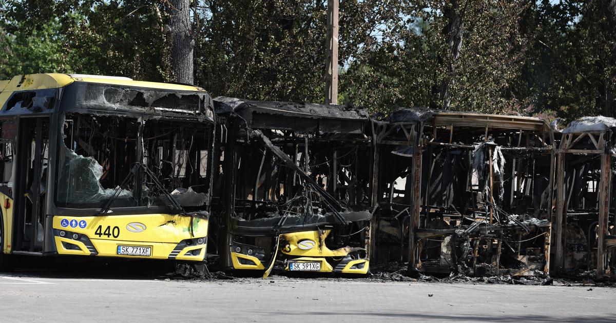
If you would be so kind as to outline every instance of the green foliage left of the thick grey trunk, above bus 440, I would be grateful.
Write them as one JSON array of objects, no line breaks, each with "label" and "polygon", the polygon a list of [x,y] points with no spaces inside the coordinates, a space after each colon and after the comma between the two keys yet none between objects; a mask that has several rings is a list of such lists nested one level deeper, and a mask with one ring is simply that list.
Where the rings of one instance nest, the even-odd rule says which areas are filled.
[{"label": "green foliage left of the thick grey trunk, above bus 440", "polygon": [[3,70],[3,78],[36,71],[166,79],[158,6],[155,1],[105,0],[0,5],[0,31],[10,49],[10,58],[0,58],[0,63],[5,70],[12,66]]}]

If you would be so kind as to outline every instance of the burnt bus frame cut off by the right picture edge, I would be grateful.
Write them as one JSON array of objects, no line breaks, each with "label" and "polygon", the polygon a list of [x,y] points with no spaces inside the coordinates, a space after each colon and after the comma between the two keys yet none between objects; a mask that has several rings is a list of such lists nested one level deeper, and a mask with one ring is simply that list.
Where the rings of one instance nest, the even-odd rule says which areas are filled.
[{"label": "burnt bus frame cut off by the right picture edge", "polygon": [[562,276],[616,277],[616,119],[586,116],[555,131],[553,268]]}]

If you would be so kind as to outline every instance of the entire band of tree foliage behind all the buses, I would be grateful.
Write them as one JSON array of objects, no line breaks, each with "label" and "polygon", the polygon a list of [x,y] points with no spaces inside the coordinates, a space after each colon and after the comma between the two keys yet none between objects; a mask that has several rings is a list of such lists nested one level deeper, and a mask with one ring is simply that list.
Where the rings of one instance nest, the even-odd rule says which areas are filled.
[{"label": "entire band of tree foliage behind all the buses", "polygon": [[[614,116],[613,0],[341,0],[339,99],[543,118]],[[169,2],[0,0],[0,78],[168,81]],[[322,102],[325,0],[195,0],[195,80],[213,95]],[[461,49],[447,42],[454,10]]]}]

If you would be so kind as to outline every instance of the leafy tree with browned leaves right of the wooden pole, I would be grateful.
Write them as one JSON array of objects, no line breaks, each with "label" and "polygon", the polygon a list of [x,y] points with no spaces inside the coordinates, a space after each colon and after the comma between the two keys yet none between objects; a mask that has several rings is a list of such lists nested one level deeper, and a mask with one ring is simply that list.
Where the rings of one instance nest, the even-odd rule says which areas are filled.
[{"label": "leafy tree with browned leaves right of the wooden pole", "polygon": [[355,100],[363,94],[363,104],[378,109],[393,103],[520,110],[509,83],[529,42],[519,24],[526,7],[526,1],[415,1],[404,13],[407,26],[367,48],[341,78],[343,89]]}]

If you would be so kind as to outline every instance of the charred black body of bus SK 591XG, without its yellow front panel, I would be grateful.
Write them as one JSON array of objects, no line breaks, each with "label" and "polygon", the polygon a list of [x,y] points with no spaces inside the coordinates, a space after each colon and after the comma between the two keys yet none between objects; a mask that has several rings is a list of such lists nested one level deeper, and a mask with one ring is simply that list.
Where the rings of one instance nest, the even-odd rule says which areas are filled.
[{"label": "charred black body of bus SK 591XG, without its yellow front panel", "polygon": [[[217,111],[224,111],[225,102],[216,100]],[[265,263],[275,237],[283,233],[331,229],[325,241],[329,249],[364,247],[371,217],[367,118],[344,110],[355,119],[318,116],[311,114],[318,113],[314,105],[274,102],[232,108],[224,114],[228,130],[221,147],[222,216],[216,225],[228,228],[221,243],[241,253],[253,250]],[[336,109],[341,107],[331,107]],[[222,265],[229,266],[226,261],[223,256]]]}]

